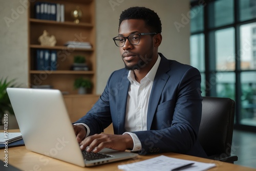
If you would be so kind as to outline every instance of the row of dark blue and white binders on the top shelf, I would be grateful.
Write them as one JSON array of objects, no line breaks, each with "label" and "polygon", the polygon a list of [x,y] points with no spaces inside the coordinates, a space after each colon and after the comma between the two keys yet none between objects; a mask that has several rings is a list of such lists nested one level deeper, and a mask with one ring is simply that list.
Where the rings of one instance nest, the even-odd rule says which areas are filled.
[{"label": "row of dark blue and white binders on the top shelf", "polygon": [[36,19],[54,20],[57,22],[65,21],[65,5],[56,3],[35,3]]}]

